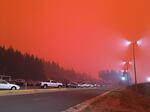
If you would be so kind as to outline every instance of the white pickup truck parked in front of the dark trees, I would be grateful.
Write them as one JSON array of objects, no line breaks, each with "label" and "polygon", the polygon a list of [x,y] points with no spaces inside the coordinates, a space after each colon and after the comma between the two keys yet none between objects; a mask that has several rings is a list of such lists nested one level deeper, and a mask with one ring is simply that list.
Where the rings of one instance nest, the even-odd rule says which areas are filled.
[{"label": "white pickup truck parked in front of the dark trees", "polygon": [[48,87],[58,87],[58,88],[63,87],[62,83],[56,82],[55,80],[48,80],[46,82],[41,82],[40,85],[41,85],[41,88],[44,88],[44,89]]}]

